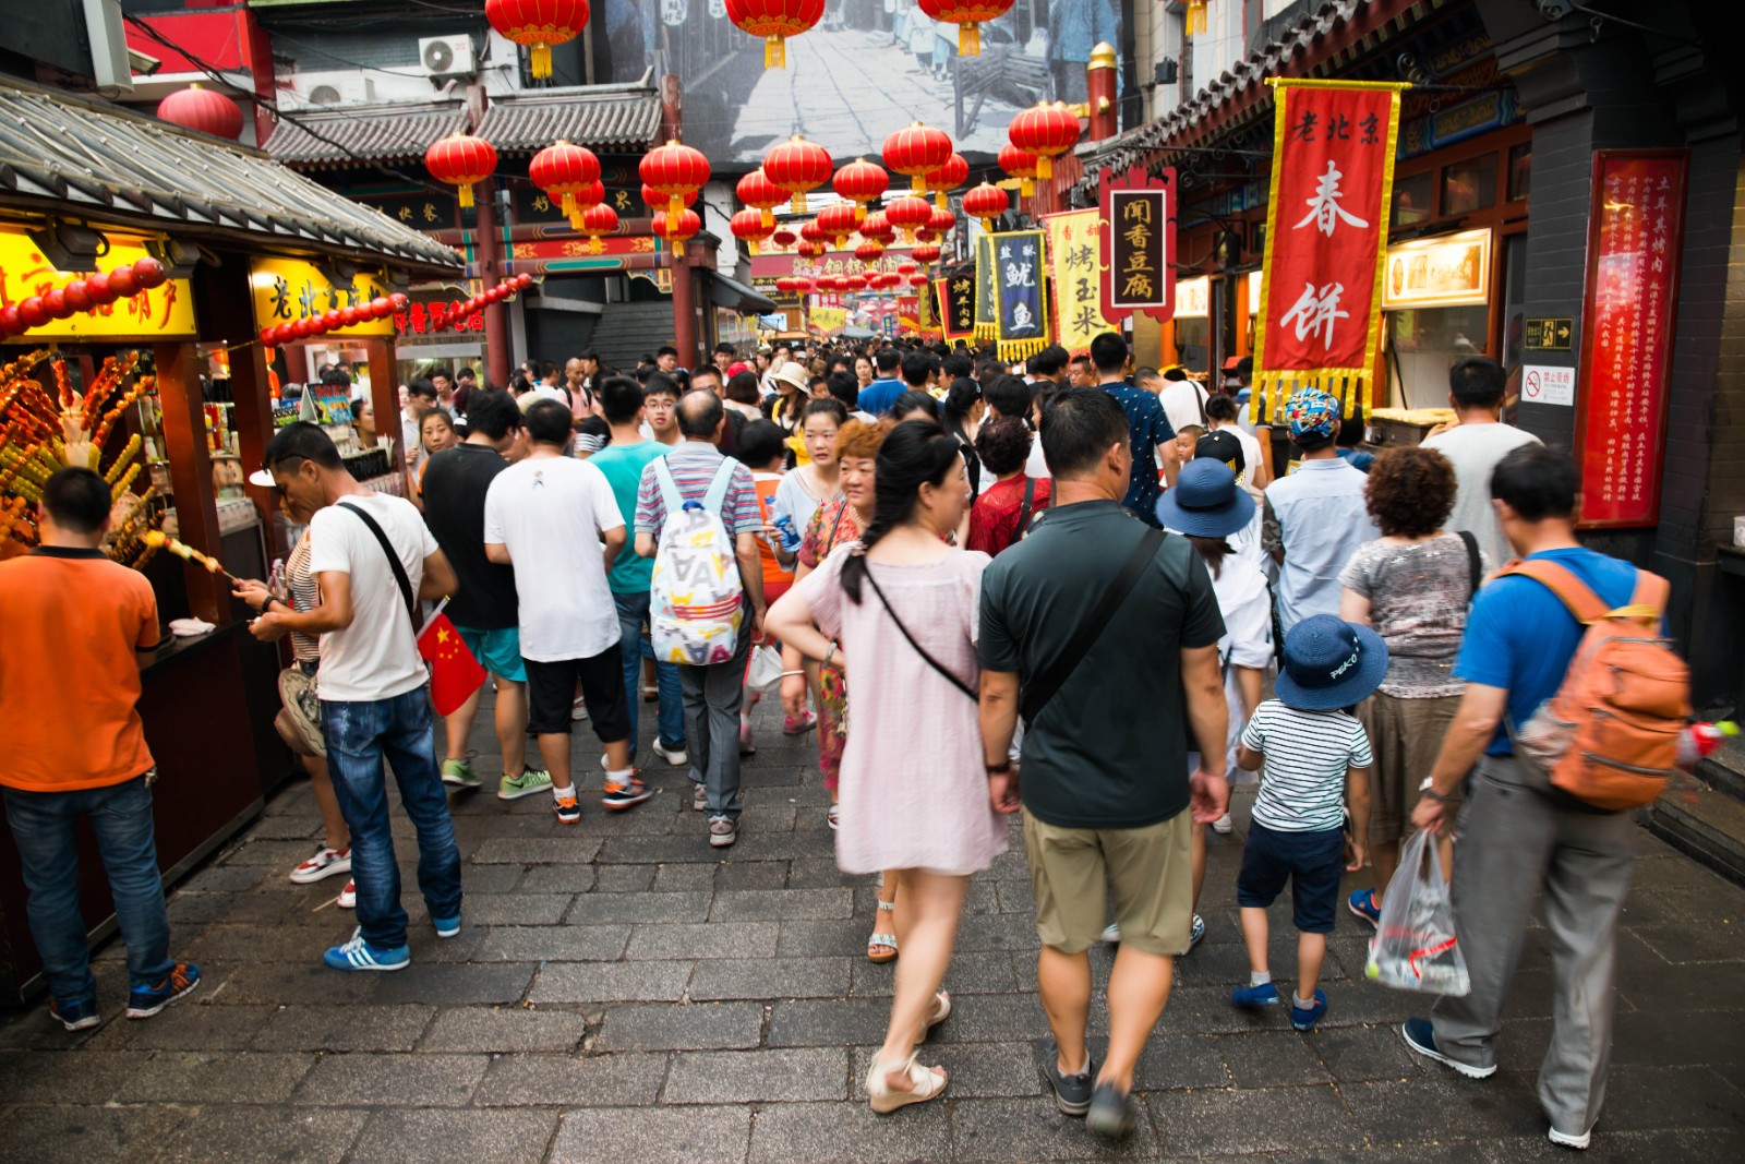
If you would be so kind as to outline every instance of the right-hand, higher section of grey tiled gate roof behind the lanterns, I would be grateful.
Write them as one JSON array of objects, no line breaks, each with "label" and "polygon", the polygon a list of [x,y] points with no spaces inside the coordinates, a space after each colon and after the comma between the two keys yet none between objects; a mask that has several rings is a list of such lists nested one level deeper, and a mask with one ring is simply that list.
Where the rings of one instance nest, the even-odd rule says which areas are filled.
[{"label": "right-hand, higher section of grey tiled gate roof behind the lanterns", "polygon": [[492,98],[478,136],[497,154],[534,154],[553,141],[640,154],[660,136],[660,98],[646,86],[572,86]]}]

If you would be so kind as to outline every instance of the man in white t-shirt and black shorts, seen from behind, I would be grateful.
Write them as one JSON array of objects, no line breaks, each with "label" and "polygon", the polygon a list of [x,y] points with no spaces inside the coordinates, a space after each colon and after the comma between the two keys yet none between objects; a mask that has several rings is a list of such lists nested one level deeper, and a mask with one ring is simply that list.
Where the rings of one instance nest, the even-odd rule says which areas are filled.
[{"label": "man in white t-shirt and black shorts, seen from behind", "polygon": [[649,789],[630,766],[630,710],[619,654],[618,604],[607,571],[625,548],[612,485],[586,461],[564,455],[571,410],[553,400],[527,408],[527,457],[485,490],[485,557],[515,567],[527,726],[551,773],[558,824],[579,824],[569,775],[571,702],[578,682],[593,733],[606,745],[606,808],[630,808]]}]

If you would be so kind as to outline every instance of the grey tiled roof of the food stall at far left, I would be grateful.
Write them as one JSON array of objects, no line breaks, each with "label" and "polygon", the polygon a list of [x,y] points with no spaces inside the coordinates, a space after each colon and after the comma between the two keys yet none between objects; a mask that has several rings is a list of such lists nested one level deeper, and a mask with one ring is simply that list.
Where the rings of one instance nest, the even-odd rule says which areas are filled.
[{"label": "grey tiled roof of the food stall at far left", "polygon": [[426,272],[462,265],[454,250],[260,150],[10,79],[0,79],[0,209]]}]

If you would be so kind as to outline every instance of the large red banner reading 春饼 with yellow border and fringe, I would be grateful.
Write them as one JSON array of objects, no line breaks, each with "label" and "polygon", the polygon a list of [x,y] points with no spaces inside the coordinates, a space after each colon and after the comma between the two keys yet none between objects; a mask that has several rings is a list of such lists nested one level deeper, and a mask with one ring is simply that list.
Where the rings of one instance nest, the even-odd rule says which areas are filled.
[{"label": "large red banner reading \u6625\u997c with yellow border and fringe", "polygon": [[1382,264],[1403,84],[1269,79],[1277,96],[1255,393],[1298,387],[1361,415],[1382,330]]}]

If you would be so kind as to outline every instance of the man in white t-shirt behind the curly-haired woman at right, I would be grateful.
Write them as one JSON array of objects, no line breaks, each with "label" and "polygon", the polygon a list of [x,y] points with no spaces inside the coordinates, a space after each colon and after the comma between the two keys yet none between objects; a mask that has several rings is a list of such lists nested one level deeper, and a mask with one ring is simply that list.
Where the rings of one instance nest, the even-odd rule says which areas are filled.
[{"label": "man in white t-shirt behind the curly-haired woman at right", "polygon": [[1532,433],[1501,422],[1506,387],[1508,375],[1495,359],[1469,356],[1454,365],[1448,372],[1448,407],[1459,422],[1424,438],[1426,448],[1448,457],[1459,482],[1454,511],[1443,529],[1469,532],[1497,564],[1511,560],[1515,551],[1502,537],[1495,506],[1490,504],[1490,473],[1522,445],[1543,443]]}]

